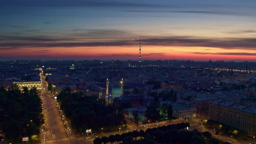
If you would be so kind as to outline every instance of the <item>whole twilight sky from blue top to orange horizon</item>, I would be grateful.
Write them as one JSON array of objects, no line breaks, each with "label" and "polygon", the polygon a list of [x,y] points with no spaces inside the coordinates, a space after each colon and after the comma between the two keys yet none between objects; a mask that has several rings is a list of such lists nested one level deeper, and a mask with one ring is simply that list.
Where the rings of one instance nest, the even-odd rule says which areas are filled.
[{"label": "whole twilight sky from blue top to orange horizon", "polygon": [[256,61],[256,0],[0,0],[0,60]]}]

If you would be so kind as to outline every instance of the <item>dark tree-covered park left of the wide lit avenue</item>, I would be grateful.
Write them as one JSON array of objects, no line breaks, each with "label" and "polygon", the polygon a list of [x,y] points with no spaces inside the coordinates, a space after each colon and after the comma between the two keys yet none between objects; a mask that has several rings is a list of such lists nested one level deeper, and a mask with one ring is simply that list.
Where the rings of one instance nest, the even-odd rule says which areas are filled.
[{"label": "dark tree-covered park left of the wide lit avenue", "polygon": [[0,87],[0,129],[7,141],[18,143],[21,137],[39,134],[44,123],[42,102],[36,88],[21,92],[17,85],[8,90]]}]

